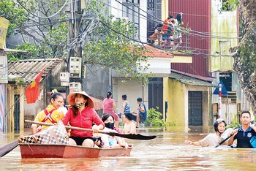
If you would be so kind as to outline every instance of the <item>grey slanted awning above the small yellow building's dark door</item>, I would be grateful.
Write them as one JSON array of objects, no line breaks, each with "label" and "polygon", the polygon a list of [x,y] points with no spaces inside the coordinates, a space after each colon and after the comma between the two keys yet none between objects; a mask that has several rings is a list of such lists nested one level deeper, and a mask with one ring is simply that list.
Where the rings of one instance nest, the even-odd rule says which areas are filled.
[{"label": "grey slanted awning above the small yellow building's dark door", "polygon": [[169,75],[169,78],[178,80],[179,82],[184,83],[189,86],[217,87],[217,85],[208,83],[208,81],[206,81],[206,80],[200,80],[195,77],[178,74],[176,72],[171,72]]}]

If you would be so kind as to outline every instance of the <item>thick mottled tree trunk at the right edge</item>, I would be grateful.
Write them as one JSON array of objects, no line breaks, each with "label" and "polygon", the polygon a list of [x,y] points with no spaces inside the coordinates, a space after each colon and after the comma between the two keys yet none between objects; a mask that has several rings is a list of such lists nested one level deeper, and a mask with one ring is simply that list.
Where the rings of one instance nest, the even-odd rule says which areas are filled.
[{"label": "thick mottled tree trunk at the right edge", "polygon": [[238,5],[241,17],[241,41],[232,49],[233,69],[238,74],[246,99],[256,113],[256,0],[230,0]]}]

